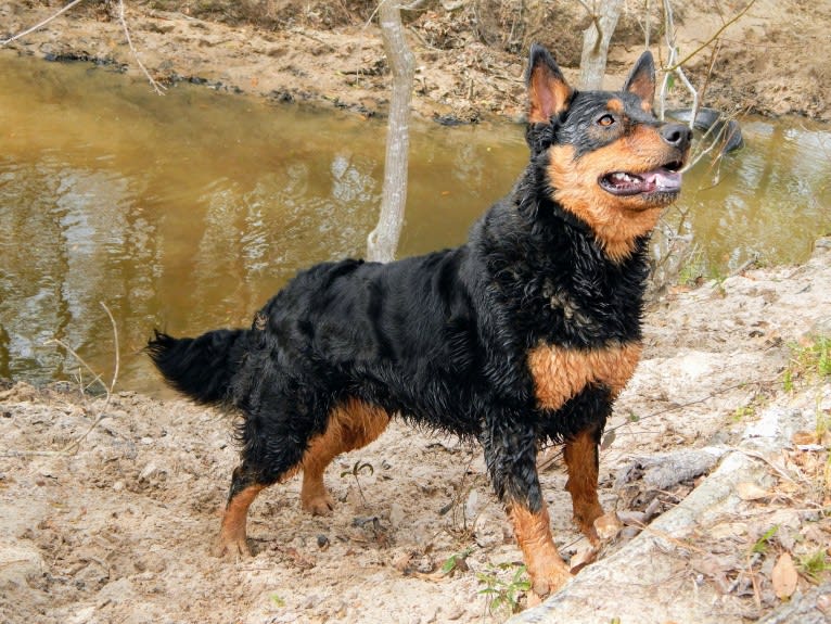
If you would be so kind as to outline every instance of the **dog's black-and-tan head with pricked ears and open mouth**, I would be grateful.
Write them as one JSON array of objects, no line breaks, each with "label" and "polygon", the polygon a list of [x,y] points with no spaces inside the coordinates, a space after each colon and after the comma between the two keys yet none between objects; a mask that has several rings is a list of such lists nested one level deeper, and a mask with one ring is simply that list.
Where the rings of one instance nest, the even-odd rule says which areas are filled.
[{"label": "dog's black-and-tan head with pricked ears and open mouth", "polygon": [[652,114],[655,66],[644,52],[621,91],[577,91],[534,44],[527,72],[528,145],[544,192],[587,224],[606,254],[628,257],[681,190],[691,130]]}]

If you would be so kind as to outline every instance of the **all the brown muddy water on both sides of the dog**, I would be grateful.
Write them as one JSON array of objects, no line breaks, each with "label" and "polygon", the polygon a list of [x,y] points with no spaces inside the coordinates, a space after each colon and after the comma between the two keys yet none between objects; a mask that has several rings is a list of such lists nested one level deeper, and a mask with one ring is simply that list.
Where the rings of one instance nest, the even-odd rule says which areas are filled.
[{"label": "all the brown muddy water on both sides of the dog", "polygon": [[[688,175],[683,221],[711,269],[797,262],[831,229],[831,130],[745,123],[719,182]],[[159,98],[86,64],[0,54],[0,377],[74,379],[73,346],[119,387],[154,392],[151,329],[248,324],[297,269],[360,255],[384,126],[205,87]],[[511,125],[413,129],[400,255],[455,245],[527,153]],[[712,188],[709,188],[712,187]],[[678,218],[677,214],[668,215]],[[88,372],[82,372],[89,379]]]}]

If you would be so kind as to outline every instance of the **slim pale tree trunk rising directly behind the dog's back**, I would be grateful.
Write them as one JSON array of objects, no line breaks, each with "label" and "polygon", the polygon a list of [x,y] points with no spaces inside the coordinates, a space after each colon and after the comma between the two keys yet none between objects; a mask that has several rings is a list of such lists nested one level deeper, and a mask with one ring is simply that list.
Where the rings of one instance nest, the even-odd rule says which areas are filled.
[{"label": "slim pale tree trunk rising directly behind the dog's back", "polygon": [[386,133],[381,214],[375,229],[367,237],[367,259],[386,263],[395,258],[407,203],[410,101],[416,59],[404,38],[398,0],[382,0],[379,7],[379,22],[384,52],[393,72],[393,98]]}]

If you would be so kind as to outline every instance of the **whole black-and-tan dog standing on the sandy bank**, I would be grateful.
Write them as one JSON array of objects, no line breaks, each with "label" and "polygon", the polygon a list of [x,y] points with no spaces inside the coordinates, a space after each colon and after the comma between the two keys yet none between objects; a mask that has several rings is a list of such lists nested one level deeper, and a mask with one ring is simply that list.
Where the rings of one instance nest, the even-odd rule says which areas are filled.
[{"label": "whole black-and-tan dog standing on the sandy bank", "polygon": [[301,471],[303,508],[330,513],[327,466],[395,416],[482,444],[537,596],[571,577],[537,474],[542,443],[564,443],[574,519],[598,540],[598,445],[641,353],[648,241],[692,135],[653,115],[649,52],[621,91],[581,92],[534,44],[525,80],[530,161],[463,245],[319,264],[250,329],[155,331],[146,351],[174,389],[242,415],[220,556],[250,555],[252,501]]}]

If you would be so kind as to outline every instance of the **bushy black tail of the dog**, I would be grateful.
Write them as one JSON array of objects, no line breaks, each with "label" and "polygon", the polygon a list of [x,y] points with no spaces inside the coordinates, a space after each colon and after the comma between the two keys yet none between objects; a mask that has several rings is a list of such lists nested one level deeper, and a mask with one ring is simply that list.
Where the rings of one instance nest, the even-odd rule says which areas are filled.
[{"label": "bushy black tail of the dog", "polygon": [[247,352],[248,330],[220,329],[182,339],[154,333],[144,351],[171,387],[204,405],[230,399],[231,380]]}]

